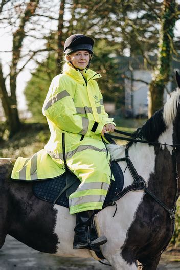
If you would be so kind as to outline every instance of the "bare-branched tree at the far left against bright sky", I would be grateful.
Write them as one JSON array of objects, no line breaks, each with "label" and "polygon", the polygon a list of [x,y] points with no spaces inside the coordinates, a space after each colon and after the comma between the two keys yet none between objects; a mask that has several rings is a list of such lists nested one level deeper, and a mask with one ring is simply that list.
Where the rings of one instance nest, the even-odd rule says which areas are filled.
[{"label": "bare-branched tree at the far left against bright sky", "polygon": [[7,0],[1,3],[1,28],[4,28],[5,35],[7,32],[8,36],[12,36],[12,50],[1,52],[11,54],[11,61],[6,63],[5,57],[0,60],[0,97],[10,136],[20,127],[16,100],[19,74],[27,66],[33,70],[39,59],[43,61],[50,50],[57,49],[49,40],[54,29],[54,24],[50,22],[58,22],[57,1],[60,3],[59,0]]}]

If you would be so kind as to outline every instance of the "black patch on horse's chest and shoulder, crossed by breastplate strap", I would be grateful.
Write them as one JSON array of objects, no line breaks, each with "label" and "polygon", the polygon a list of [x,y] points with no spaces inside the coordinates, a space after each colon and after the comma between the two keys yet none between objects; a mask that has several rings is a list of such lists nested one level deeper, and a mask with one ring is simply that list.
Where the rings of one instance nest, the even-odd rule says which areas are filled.
[{"label": "black patch on horse's chest and shoulder, crossed by breastplate strap", "polygon": [[[155,148],[157,153],[155,171],[150,175],[148,189],[170,207],[176,191],[176,181],[175,179],[173,182],[171,181],[173,171],[171,154],[166,147],[162,149],[155,146]],[[167,162],[164,163],[164,160],[171,162],[167,166]],[[171,232],[172,221],[169,213],[151,196],[145,194],[122,246],[123,258],[130,264],[134,262],[134,258],[141,263],[152,261],[170,240]],[[134,249],[134,246],[137,248]],[[150,264],[148,269],[153,269],[150,268]]]}]

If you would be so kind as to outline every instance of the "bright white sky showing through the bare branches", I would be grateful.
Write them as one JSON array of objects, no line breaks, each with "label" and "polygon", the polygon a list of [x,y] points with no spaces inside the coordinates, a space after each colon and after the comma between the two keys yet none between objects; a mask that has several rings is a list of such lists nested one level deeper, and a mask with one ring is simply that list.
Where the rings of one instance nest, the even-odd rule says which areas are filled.
[{"label": "bright white sky showing through the bare branches", "polygon": [[[57,4],[58,3],[57,1],[58,0],[53,0],[54,4]],[[178,0],[177,2],[180,3],[180,0]],[[51,12],[51,10],[49,12]],[[58,16],[58,9],[57,8],[56,8],[55,13],[54,13],[54,9],[52,9],[52,15]],[[68,14],[67,14],[67,17],[68,17]],[[43,18],[42,18],[42,21],[43,21]],[[44,24],[45,24],[45,21],[44,21]],[[44,25],[43,30],[48,35],[48,30],[46,31],[46,29],[56,30],[57,29],[57,21],[52,20],[49,24],[47,23],[46,25]],[[175,35],[177,35],[177,34],[179,35],[179,31],[180,31],[180,20],[178,20],[176,22],[175,30],[174,30]],[[32,35],[34,35],[33,31],[32,31]],[[43,46],[44,46],[44,40],[40,40],[40,39],[37,39],[37,40],[33,39],[33,42],[31,41],[31,39],[30,40],[26,39],[25,43],[24,43],[24,47],[31,48],[32,50],[42,48]],[[11,53],[7,53],[4,51],[11,51],[11,49],[12,49],[11,28],[8,28],[8,27],[3,28],[2,27],[2,28],[0,28],[0,59],[2,61],[2,65],[4,67],[3,72],[4,72],[5,76],[9,72],[8,63],[11,61],[12,55],[11,55]],[[24,51],[24,53],[26,53],[26,51]],[[128,56],[128,50],[127,50],[127,56]],[[46,53],[41,53],[37,56],[38,61],[42,61],[45,58],[46,58]],[[21,62],[20,65],[22,66],[23,63]],[[26,100],[25,100],[25,96],[24,96],[24,89],[26,87],[27,82],[31,78],[31,70],[35,69],[35,67],[36,67],[36,64],[33,61],[29,62],[27,64],[26,68],[22,72],[20,72],[20,74],[17,77],[17,92],[16,93],[17,93],[17,102],[18,102],[18,109],[19,110],[27,110]],[[20,66],[19,66],[19,68],[20,68]],[[8,87],[8,84],[7,84],[7,87]],[[47,85],[47,91],[48,91],[48,88],[49,88],[49,85]]]}]

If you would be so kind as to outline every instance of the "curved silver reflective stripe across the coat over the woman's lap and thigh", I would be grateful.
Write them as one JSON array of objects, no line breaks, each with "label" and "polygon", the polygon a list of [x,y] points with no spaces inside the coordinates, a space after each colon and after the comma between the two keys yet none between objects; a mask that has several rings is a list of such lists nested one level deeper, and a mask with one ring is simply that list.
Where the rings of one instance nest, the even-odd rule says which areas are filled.
[{"label": "curved silver reflective stripe across the coat over the woman's lap and thigh", "polygon": [[[75,150],[72,150],[72,151],[69,151],[69,152],[66,152],[65,155],[66,155],[66,159],[70,159],[72,158],[72,156],[78,152],[82,152],[84,150],[94,150],[94,151],[98,151],[98,152],[105,152],[107,153],[107,150],[106,148],[102,148],[102,149],[99,149],[97,148],[96,146],[93,146],[93,145],[80,145],[78,146]],[[54,159],[61,159],[61,160],[64,160],[63,159],[63,154],[55,154],[54,152],[51,152],[51,151],[48,151],[48,154],[54,158]]]}]

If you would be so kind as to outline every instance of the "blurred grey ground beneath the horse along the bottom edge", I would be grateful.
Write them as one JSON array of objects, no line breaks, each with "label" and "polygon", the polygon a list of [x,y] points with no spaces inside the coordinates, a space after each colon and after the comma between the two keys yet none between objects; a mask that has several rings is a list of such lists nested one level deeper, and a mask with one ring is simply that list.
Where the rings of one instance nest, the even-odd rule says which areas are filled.
[{"label": "blurred grey ground beneath the horse along the bottom edge", "polygon": [[[100,264],[93,259],[62,258],[44,254],[20,243],[11,236],[0,250],[0,270],[112,270],[110,266]],[[180,269],[180,262],[161,260],[158,270]]]}]

